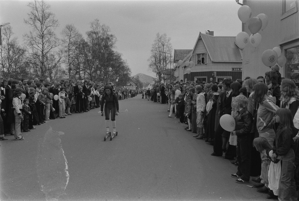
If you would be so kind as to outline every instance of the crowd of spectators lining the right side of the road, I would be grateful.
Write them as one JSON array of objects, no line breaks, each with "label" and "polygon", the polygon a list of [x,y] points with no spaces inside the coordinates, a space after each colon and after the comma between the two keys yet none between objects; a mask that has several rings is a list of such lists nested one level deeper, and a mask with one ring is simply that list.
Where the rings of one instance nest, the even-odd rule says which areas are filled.
[{"label": "crowd of spectators lining the right side of the road", "polygon": [[[296,201],[299,90],[278,70],[274,66],[265,76],[243,81],[162,83],[143,93],[148,100],[168,104],[168,117],[175,114],[195,139],[212,144],[212,156],[225,154],[237,166],[231,174],[237,183],[248,183],[252,176],[257,191],[268,193],[266,198]],[[220,125],[224,114],[234,118],[234,131]]]}]

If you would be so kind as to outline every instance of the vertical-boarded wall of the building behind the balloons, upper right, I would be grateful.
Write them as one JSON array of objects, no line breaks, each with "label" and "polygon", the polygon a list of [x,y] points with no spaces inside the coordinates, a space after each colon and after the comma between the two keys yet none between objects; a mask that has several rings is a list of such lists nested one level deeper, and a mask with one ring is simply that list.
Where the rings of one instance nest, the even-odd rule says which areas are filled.
[{"label": "vertical-boarded wall of the building behind the balloons, upper right", "polygon": [[[298,10],[298,1],[294,1],[296,9]],[[262,36],[262,42],[257,48],[252,47],[250,44],[243,50],[243,75],[242,77],[264,76],[265,72],[270,68],[266,67],[262,62],[262,54],[267,49],[273,49],[279,46],[285,55],[285,49],[290,46],[299,45],[299,14],[295,12],[285,18],[283,15],[283,3],[284,1],[269,1],[269,0],[244,0],[243,4],[248,5],[251,8],[252,16],[257,16],[260,13],[264,13],[268,16],[268,26],[259,31]],[[240,22],[241,25],[242,22]],[[248,22],[242,25],[243,31],[251,34],[248,29]],[[287,43],[289,41],[289,43]],[[244,62],[249,62],[244,64]],[[282,67],[280,73],[282,77],[285,77],[286,68]]]}]

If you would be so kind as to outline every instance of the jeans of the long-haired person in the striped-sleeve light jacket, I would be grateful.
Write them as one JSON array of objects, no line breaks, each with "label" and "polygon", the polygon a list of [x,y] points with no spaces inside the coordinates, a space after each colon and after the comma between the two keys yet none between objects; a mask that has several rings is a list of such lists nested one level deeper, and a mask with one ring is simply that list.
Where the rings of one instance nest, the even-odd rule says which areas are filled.
[{"label": "jeans of the long-haired person in the striped-sleeve light jacket", "polygon": [[[269,144],[273,146],[273,142],[275,139],[275,132],[273,129],[270,129],[267,132],[259,133],[259,137],[265,137],[268,140]],[[260,176],[260,178],[262,179],[261,183],[265,184],[265,186],[268,188],[268,184],[269,184],[268,170],[269,170],[271,160],[268,159],[266,150],[264,150],[263,153],[261,153],[261,159],[262,159],[262,170]]]}]

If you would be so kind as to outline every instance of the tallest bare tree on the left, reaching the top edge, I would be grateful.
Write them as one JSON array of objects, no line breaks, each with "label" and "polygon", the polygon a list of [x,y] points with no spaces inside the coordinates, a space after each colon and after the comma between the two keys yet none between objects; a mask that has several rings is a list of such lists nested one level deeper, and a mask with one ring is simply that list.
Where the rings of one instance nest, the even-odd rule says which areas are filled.
[{"label": "tallest bare tree on the left, reaching the top edge", "polygon": [[[30,25],[31,31],[24,35],[26,45],[29,49],[29,62],[36,68],[37,76],[45,77],[51,67],[47,66],[53,59],[61,60],[61,57],[53,57],[57,54],[59,39],[54,30],[59,26],[55,14],[50,11],[50,5],[46,1],[34,0],[28,3],[30,12],[24,23]],[[49,61],[51,60],[51,61]],[[54,63],[58,63],[55,61]]]}]

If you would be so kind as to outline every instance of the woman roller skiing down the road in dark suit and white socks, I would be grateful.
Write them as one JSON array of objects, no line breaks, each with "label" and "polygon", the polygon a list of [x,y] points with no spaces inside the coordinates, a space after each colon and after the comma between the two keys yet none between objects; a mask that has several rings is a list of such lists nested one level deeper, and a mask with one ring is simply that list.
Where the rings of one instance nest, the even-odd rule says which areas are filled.
[{"label": "woman roller skiing down the road in dark suit and white socks", "polygon": [[[103,108],[104,108],[104,102],[106,100],[106,103],[105,103],[105,108],[104,108],[104,111],[105,111],[105,124],[106,124],[106,138],[107,136],[109,135],[109,116],[110,116],[110,113],[111,113],[111,121],[112,121],[112,127],[113,127],[113,137],[114,135],[117,135],[117,132],[116,132],[116,123],[115,123],[115,115],[118,115],[118,99],[117,99],[117,96],[112,92],[112,87],[110,85],[106,85],[104,87],[104,94],[103,94],[103,97],[102,97],[102,101],[101,101],[101,114],[103,115]],[[105,138],[105,139],[106,139]],[[111,138],[112,139],[112,138]],[[110,140],[111,140],[110,139]]]}]

